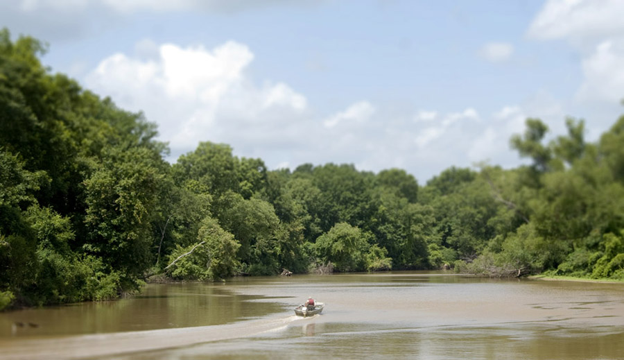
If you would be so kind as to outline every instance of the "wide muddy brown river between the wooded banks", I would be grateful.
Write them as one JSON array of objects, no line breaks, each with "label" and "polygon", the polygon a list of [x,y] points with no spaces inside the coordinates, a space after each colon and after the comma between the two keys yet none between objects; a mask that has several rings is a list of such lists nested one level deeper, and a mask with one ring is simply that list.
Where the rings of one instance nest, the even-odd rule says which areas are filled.
[{"label": "wide muddy brown river between the wooded banks", "polygon": [[[309,295],[326,307],[298,318]],[[150,284],[0,314],[0,359],[624,359],[624,284],[427,272]]]}]

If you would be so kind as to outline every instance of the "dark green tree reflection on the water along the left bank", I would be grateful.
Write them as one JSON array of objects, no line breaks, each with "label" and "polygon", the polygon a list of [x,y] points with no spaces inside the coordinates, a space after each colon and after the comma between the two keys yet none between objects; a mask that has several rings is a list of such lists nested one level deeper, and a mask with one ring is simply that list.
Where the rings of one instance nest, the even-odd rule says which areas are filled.
[{"label": "dark green tree reflection on the water along the left bank", "polygon": [[0,314],[0,338],[220,325],[281,311],[275,303],[252,301],[259,298],[220,283],[150,284],[132,298]]}]

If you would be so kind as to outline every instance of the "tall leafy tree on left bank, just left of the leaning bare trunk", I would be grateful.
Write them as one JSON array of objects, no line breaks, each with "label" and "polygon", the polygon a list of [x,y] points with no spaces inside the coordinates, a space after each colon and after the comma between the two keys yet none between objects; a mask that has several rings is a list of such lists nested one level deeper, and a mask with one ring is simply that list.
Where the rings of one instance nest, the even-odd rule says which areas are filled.
[{"label": "tall leafy tree on left bank, just left of the leaning bare trunk", "polygon": [[92,233],[84,248],[121,271],[130,289],[151,265],[151,224],[164,166],[162,157],[148,148],[110,148],[85,180],[85,223]]}]

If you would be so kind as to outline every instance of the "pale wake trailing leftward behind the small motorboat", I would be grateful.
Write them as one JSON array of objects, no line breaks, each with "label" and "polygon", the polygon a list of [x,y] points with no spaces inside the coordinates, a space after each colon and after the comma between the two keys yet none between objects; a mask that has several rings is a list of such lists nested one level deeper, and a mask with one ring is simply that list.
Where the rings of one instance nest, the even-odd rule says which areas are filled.
[{"label": "pale wake trailing leftward behind the small motorboat", "polygon": [[181,327],[140,332],[114,332],[64,337],[1,339],[1,359],[83,359],[182,346],[279,332],[298,316],[244,320],[226,325]]}]

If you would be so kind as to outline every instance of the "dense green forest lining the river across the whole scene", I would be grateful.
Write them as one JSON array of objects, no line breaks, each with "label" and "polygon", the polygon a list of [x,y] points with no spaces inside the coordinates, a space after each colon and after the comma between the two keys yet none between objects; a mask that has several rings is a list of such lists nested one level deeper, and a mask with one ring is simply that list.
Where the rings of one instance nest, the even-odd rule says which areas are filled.
[{"label": "dense green forest lining the river across the whole scene", "polygon": [[0,309],[116,298],[151,275],[223,280],[315,269],[434,269],[624,280],[624,117],[584,122],[530,165],[401,169],[261,159],[202,142],[175,164],[141,113],[51,74],[31,38],[0,32]]}]

